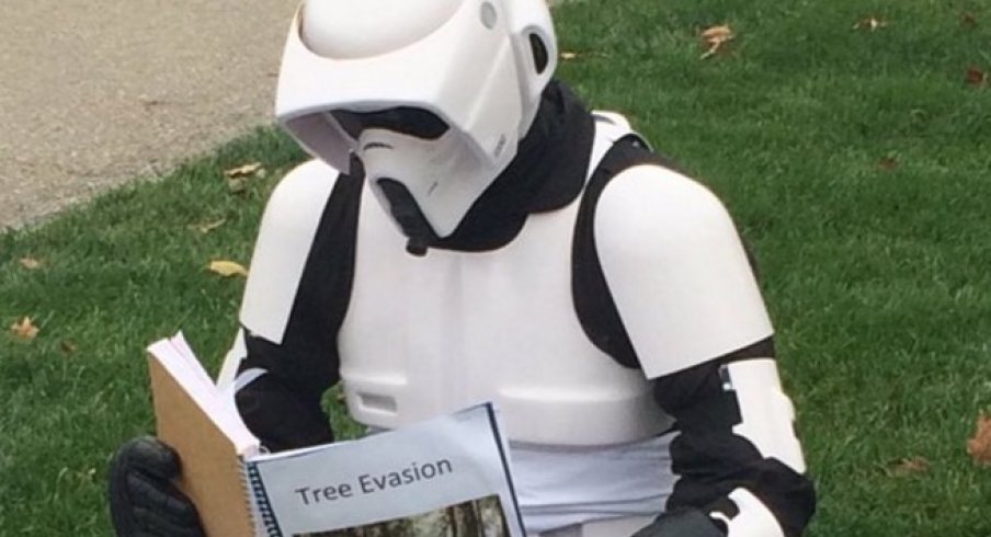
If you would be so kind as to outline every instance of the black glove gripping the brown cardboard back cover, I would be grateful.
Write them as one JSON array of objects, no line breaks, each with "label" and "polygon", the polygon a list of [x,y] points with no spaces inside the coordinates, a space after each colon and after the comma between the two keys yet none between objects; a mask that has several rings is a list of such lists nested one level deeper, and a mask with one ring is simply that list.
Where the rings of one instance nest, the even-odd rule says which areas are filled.
[{"label": "black glove gripping the brown cardboard back cover", "polygon": [[110,465],[110,514],[118,537],[205,537],[196,507],[172,479],[179,455],[141,436],[117,449]]}]

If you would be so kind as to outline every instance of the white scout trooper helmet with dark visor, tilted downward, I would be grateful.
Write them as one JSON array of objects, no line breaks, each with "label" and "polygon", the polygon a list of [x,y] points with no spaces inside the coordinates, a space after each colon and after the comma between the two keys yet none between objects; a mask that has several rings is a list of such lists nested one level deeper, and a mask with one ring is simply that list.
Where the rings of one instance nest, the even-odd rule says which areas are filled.
[{"label": "white scout trooper helmet with dark visor, tilted downward", "polygon": [[357,157],[412,250],[515,157],[556,64],[546,0],[307,0],[275,113],[334,168]]}]

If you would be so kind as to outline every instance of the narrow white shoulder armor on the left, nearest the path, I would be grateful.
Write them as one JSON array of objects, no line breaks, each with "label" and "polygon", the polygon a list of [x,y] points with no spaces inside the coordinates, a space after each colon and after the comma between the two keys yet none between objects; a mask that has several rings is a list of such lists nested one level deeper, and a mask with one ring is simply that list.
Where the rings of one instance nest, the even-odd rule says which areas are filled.
[{"label": "narrow white shoulder armor on the left, nearest the path", "polygon": [[269,198],[241,302],[241,324],[281,343],[303,268],[339,172],[311,160],[278,183]]}]

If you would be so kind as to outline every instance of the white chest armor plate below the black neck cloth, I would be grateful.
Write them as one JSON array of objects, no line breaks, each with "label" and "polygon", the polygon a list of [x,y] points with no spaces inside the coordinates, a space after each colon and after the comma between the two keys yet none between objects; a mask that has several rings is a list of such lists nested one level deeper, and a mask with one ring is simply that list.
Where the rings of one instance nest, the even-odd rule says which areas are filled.
[{"label": "white chest armor plate below the black neck cloth", "polygon": [[582,331],[571,294],[580,199],[488,252],[406,252],[367,190],[341,376],[357,421],[391,429],[492,400],[512,441],[606,445],[670,425],[643,373]]}]

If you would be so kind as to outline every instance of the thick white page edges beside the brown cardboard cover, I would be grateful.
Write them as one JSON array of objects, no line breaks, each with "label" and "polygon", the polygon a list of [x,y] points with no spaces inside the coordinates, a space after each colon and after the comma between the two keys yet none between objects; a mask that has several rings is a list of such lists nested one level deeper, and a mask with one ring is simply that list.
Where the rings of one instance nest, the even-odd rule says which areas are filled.
[{"label": "thick white page edges beside the brown cardboard cover", "polygon": [[239,454],[258,453],[260,443],[238,414],[232,395],[221,392],[214,385],[182,332],[152,343],[148,346],[148,352],[185,387],[196,404],[231,439]]}]

